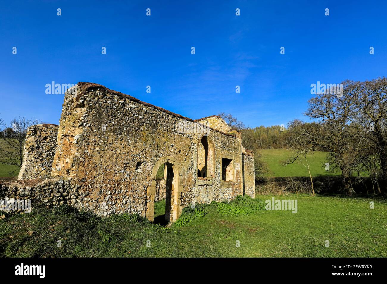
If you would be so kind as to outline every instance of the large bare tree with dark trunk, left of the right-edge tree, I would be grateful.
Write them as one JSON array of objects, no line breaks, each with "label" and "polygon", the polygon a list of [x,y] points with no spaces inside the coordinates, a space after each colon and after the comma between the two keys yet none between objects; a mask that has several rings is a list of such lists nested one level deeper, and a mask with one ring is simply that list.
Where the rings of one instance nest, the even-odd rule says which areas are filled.
[{"label": "large bare tree with dark trunk, left of the right-edge tree", "polygon": [[330,166],[339,167],[344,177],[347,195],[354,193],[351,176],[358,166],[361,136],[358,131],[364,126],[355,123],[358,116],[359,98],[363,92],[360,82],[342,82],[342,94],[325,92],[310,99],[305,115],[317,119],[322,128],[318,133],[310,133],[312,143],[329,151]]}]

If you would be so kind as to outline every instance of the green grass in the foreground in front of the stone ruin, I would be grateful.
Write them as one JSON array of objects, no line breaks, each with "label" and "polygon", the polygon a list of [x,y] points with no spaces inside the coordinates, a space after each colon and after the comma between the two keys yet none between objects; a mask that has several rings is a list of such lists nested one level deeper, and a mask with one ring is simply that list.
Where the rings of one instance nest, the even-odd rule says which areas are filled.
[{"label": "green grass in the foreground in front of the stone ruin", "polygon": [[[298,200],[298,213],[266,211],[262,204],[271,196],[242,197],[230,204],[198,206],[205,216],[196,219],[196,213],[184,209],[179,219],[188,222],[171,228],[133,215],[101,219],[67,206],[55,213],[35,208],[0,220],[0,256],[387,257],[385,200],[286,198]],[[370,201],[375,209],[369,208]],[[155,207],[157,215],[163,214],[162,203]]]}]

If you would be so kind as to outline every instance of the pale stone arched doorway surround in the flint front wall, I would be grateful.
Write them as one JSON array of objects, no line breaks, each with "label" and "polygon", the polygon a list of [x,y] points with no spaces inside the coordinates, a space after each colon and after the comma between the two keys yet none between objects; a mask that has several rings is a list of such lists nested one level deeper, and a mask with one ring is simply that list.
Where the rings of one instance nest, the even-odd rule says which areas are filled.
[{"label": "pale stone arched doorway surround in the flint front wall", "polygon": [[147,188],[147,210],[146,218],[154,221],[154,198],[156,194],[156,175],[161,165],[166,168],[166,199],[165,199],[165,219],[168,222],[175,222],[182,213],[181,194],[183,186],[181,185],[182,176],[180,167],[176,160],[171,156],[160,158],[152,169],[151,186]]}]

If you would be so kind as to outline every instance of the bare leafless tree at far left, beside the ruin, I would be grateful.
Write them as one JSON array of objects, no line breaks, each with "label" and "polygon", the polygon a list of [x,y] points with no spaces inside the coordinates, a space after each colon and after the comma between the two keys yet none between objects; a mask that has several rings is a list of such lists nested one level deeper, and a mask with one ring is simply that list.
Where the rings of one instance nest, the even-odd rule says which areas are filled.
[{"label": "bare leafless tree at far left, beside the ruin", "polygon": [[0,163],[17,167],[16,170],[10,173],[13,174],[22,166],[27,129],[29,126],[39,123],[37,119],[19,117],[19,119],[15,118],[10,122],[10,127],[5,125],[6,129],[12,131],[7,131],[3,138],[0,139]]}]

